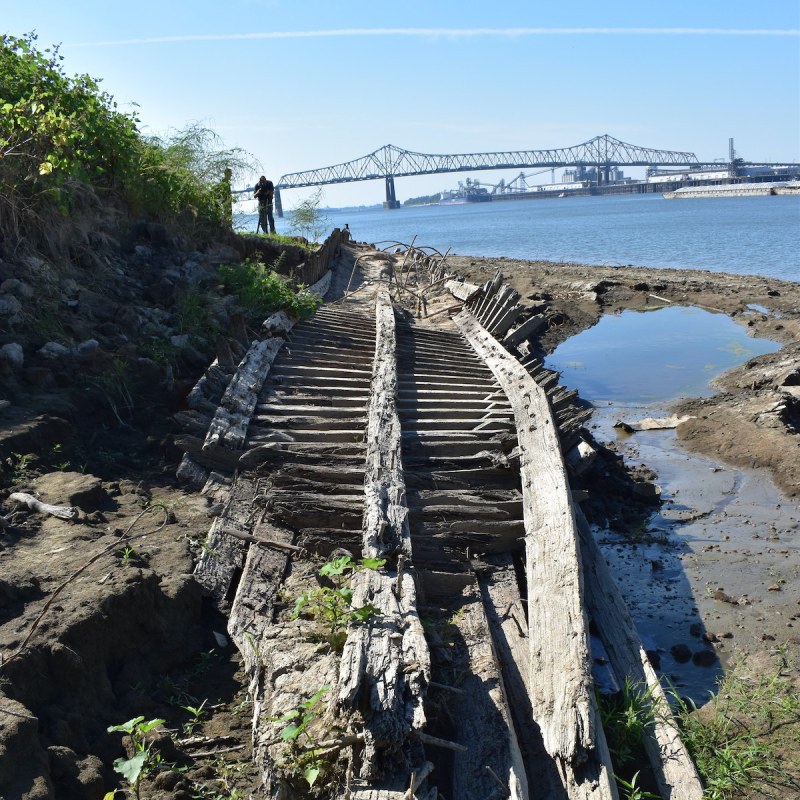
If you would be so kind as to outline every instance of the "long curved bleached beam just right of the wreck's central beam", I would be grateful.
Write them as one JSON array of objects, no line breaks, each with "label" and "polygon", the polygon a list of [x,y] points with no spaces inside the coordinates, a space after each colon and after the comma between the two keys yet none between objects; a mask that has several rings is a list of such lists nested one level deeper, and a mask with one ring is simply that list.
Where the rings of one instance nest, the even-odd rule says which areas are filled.
[{"label": "long curved bleached beam just right of the wreck's central beam", "polygon": [[[547,752],[571,798],[614,797],[611,764],[595,726],[588,622],[578,533],[555,423],[544,392],[468,312],[456,323],[514,409],[525,510],[530,663],[528,690]],[[579,780],[596,765],[596,781]]]}]

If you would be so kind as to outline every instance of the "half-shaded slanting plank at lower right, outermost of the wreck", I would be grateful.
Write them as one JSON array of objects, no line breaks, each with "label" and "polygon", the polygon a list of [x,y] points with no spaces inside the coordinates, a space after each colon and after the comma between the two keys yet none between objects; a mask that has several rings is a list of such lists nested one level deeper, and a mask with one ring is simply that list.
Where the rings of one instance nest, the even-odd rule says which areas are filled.
[{"label": "half-shaded slanting plank at lower right, outermost of the wreck", "polygon": [[697,769],[680,737],[669,701],[642,647],[630,612],[595,542],[589,524],[577,512],[584,553],[587,599],[611,666],[622,681],[626,677],[646,693],[654,724],[644,741],[664,800],[702,800]]}]

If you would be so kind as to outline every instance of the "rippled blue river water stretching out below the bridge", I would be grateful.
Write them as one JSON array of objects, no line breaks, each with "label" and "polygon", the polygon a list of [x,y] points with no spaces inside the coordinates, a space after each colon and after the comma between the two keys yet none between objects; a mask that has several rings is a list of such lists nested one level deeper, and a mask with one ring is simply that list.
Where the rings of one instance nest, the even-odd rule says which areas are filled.
[{"label": "rippled blue river water stretching out below the bridge", "polygon": [[[291,207],[291,194],[284,205]],[[459,255],[707,269],[800,280],[800,197],[606,195],[394,210],[324,210],[357,241]],[[277,220],[289,232],[289,219]],[[255,218],[247,217],[255,229]]]}]

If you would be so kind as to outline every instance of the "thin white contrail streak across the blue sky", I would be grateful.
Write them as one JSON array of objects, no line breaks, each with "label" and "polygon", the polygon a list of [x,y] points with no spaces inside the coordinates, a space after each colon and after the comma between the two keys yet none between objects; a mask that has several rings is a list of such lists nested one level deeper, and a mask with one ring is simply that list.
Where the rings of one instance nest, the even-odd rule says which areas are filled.
[{"label": "thin white contrail streak across the blue sky", "polygon": [[232,42],[248,39],[335,39],[345,37],[435,37],[467,39],[479,37],[518,38],[528,36],[800,36],[798,28],[335,28],[321,31],[259,31],[255,33],[209,33],[152,36],[142,39],[109,39],[73,42],[70,47],[172,44],[177,42]]}]

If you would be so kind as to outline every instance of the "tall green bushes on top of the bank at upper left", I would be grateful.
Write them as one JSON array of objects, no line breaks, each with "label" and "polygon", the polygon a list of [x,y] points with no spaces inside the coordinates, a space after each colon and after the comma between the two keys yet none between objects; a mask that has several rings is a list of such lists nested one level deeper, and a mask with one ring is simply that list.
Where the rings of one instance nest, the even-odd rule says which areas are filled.
[{"label": "tall green bushes on top of the bank at upper left", "polygon": [[0,35],[0,236],[45,243],[97,195],[197,238],[231,228],[230,181],[255,170],[250,156],[200,125],[143,136],[98,80],[62,62],[34,34]]}]

